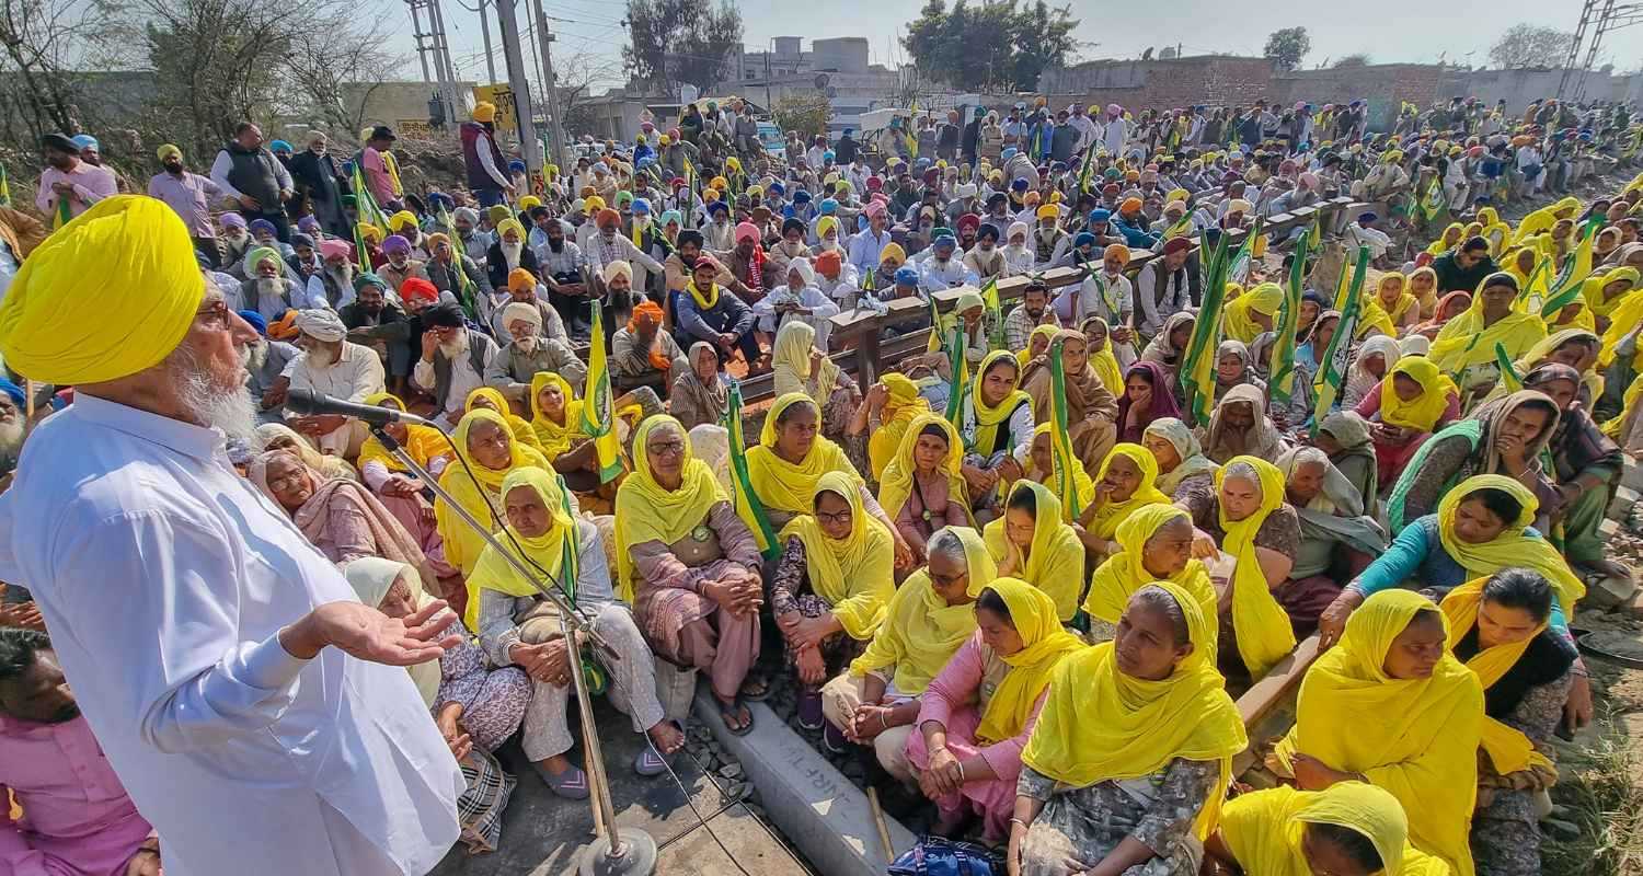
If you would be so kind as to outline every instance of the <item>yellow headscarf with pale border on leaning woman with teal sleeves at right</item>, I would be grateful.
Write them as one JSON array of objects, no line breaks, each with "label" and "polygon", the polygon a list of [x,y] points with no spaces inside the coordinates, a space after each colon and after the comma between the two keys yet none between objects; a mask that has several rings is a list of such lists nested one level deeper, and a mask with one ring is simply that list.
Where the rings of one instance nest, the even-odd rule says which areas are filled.
[{"label": "yellow headscarf with pale border on leaning woman with teal sleeves at right", "polygon": [[[1523,511],[1518,514],[1518,519],[1505,521],[1507,528],[1484,544],[1461,541],[1454,533],[1461,503],[1472,493],[1485,488],[1508,493],[1523,506]],[[1562,559],[1562,554],[1549,541],[1523,534],[1523,529],[1535,523],[1535,511],[1538,508],[1539,500],[1518,483],[1516,478],[1474,475],[1457,483],[1438,503],[1438,539],[1449,557],[1472,575],[1487,577],[1512,567],[1539,572],[1551,582],[1551,588],[1558,595],[1558,605],[1562,606],[1564,613],[1572,615],[1574,603],[1581,602],[1581,597],[1585,597],[1585,583],[1569,570],[1569,562]]]}]

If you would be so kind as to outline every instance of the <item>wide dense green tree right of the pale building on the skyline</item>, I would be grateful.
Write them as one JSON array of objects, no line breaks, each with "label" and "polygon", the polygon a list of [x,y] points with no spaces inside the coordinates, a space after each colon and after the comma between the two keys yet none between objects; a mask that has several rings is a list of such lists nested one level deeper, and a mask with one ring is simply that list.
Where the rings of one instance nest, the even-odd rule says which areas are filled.
[{"label": "wide dense green tree right of the pale building on the skyline", "polygon": [[928,0],[902,38],[918,69],[960,90],[1035,90],[1038,76],[1078,49],[1071,5],[1045,0],[953,3]]}]

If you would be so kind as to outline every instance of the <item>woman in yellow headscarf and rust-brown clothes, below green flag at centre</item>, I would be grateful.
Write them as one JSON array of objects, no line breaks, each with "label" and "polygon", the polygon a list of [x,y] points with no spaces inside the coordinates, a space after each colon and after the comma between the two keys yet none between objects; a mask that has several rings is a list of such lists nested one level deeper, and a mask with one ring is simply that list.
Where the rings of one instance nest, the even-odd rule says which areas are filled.
[{"label": "woman in yellow headscarf and rust-brown clothes, below green flag at centre", "polygon": [[902,434],[900,449],[884,468],[879,505],[912,549],[914,565],[923,564],[925,542],[937,529],[976,526],[969,514],[963,460],[958,429],[937,414],[920,414]]}]

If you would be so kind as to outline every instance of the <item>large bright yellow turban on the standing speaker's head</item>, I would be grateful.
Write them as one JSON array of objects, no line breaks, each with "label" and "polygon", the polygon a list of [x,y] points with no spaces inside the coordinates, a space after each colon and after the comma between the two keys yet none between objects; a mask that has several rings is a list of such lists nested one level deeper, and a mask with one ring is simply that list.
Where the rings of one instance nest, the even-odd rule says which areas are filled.
[{"label": "large bright yellow turban on the standing speaker's head", "polygon": [[204,296],[177,214],[151,197],[107,197],[23,261],[0,304],[0,355],[46,383],[130,376],[177,348]]}]

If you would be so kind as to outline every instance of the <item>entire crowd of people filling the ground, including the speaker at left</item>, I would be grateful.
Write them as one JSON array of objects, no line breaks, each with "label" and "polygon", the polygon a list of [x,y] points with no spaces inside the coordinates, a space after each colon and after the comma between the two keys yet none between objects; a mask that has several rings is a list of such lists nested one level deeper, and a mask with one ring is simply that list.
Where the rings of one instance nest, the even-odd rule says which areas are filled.
[{"label": "entire crowd of people filling the ground, including the speaker at left", "polygon": [[[1541,192],[1633,161],[1625,107],[1456,99],[1372,133],[1364,102],[1040,104],[775,161],[746,105],[705,102],[536,191],[495,112],[462,127],[467,186],[421,194],[388,128],[337,161],[246,123],[209,176],[161,146],[148,197],[46,136],[41,217],[0,214],[0,871],[222,871],[245,850],[168,802],[266,791],[301,733],[343,730],[388,812],[430,825],[455,794],[417,837],[491,851],[519,781],[590,794],[573,672],[660,776],[688,717],[657,675],[695,671],[734,735],[792,687],[818,745],[1019,876],[1539,873],[1549,740],[1592,718],[1569,620],[1631,575],[1599,523],[1643,455],[1643,174]],[[1254,227],[1337,194],[1385,205],[1339,228],[1360,296]],[[1255,256],[1206,289],[1232,230]],[[895,299],[923,309],[884,330],[930,352],[861,385],[833,317]],[[386,442],[292,390],[432,426]],[[348,603],[396,649],[271,616],[281,575],[330,575],[302,610]],[[169,597],[115,616],[92,580]],[[223,611],[227,580],[251,595]],[[1293,728],[1249,740],[1232,697],[1309,636]],[[406,671],[296,684],[327,646]],[[281,725],[338,684],[393,722]],[[380,766],[404,726],[432,751]],[[1232,776],[1250,746],[1277,787]],[[173,774],[179,751],[207,753]],[[437,861],[337,787],[283,817],[399,868],[340,873]]]}]

